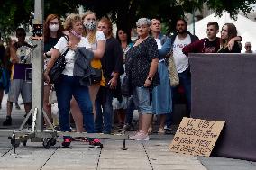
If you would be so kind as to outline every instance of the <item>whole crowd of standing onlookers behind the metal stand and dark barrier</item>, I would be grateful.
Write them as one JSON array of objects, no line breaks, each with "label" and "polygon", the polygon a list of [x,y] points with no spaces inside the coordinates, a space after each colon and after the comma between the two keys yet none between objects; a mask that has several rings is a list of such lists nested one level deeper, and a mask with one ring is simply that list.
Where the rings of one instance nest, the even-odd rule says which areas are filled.
[{"label": "whole crowd of standing onlookers behind the metal stand and dark barrier", "polygon": [[[133,111],[138,110],[139,127],[130,139],[149,140],[154,116],[159,121],[159,134],[172,133],[172,106],[178,103],[180,91],[186,96],[186,116],[190,115],[189,53],[240,53],[242,49],[242,37],[237,35],[232,23],[224,24],[219,38],[216,37],[218,23],[209,22],[207,38],[202,40],[187,31],[184,19],[178,19],[176,31],[171,36],[161,33],[158,19],[141,18],[136,27],[138,37],[132,41],[131,31],[127,28],[118,28],[114,38],[111,20],[97,20],[96,13],[92,11],[82,15],[69,14],[63,24],[58,15],[47,16],[43,27],[43,109],[53,121],[49,96],[52,90],[56,90],[59,118],[55,118],[57,121],[53,121],[53,125],[57,130],[71,131],[70,113],[77,132],[112,134],[114,113],[118,130],[131,130],[134,129]],[[0,44],[2,75],[5,75],[1,76],[0,101],[3,91],[8,93],[4,126],[12,125],[12,107],[13,103],[17,103],[19,94],[23,97],[25,114],[31,109],[32,85],[22,75],[25,69],[32,67],[31,60],[24,59],[24,55],[30,54],[26,54],[27,50],[23,48],[32,49],[25,36],[25,30],[18,28],[17,42],[10,40],[7,49],[2,41]],[[245,49],[246,53],[252,53],[250,42],[245,44]],[[179,77],[179,85],[175,87],[169,83],[167,54],[170,51]],[[66,54],[66,66],[59,82],[53,85],[50,69],[63,53]],[[81,54],[87,62],[79,62]],[[88,70],[87,67],[100,71],[100,80],[92,81],[87,75],[81,76],[81,71]],[[126,77],[132,87],[129,96],[122,95],[121,87]],[[27,123],[31,124],[31,119]],[[47,121],[45,126],[50,128]],[[70,142],[70,139],[65,137],[64,141]]]}]

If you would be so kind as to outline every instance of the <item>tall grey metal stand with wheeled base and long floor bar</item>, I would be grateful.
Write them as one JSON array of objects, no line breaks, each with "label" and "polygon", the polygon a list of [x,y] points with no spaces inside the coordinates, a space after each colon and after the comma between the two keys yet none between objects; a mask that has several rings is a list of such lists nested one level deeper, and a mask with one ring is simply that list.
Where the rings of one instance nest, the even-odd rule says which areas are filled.
[{"label": "tall grey metal stand with wheeled base and long floor bar", "polygon": [[[75,137],[87,137],[87,138],[99,138],[99,139],[123,139],[123,150],[125,148],[125,139],[128,139],[126,135],[106,135],[106,134],[97,134],[97,133],[74,133],[74,132],[57,132],[54,130],[53,125],[50,122],[46,112],[42,109],[42,92],[43,92],[43,82],[42,82],[42,47],[43,43],[40,39],[42,36],[42,4],[43,0],[35,0],[34,5],[34,45],[36,49],[33,51],[32,58],[32,109],[26,115],[21,127],[19,130],[14,131],[11,139],[11,144],[17,148],[21,142],[23,146],[26,146],[27,140],[31,139],[32,142],[42,142],[44,148],[50,148],[56,144],[56,139],[58,136],[72,136]],[[35,31],[35,28],[37,29]],[[38,30],[38,28],[40,28]],[[29,117],[32,115],[32,129],[23,130],[23,126],[28,121]],[[51,130],[43,130],[43,117],[46,119],[50,125]]]}]

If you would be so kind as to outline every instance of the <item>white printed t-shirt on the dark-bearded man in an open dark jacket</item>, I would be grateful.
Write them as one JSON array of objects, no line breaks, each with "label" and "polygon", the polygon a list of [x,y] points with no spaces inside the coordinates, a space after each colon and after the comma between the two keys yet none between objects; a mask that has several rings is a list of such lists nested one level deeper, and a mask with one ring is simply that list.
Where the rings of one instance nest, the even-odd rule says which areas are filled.
[{"label": "white printed t-shirt on the dark-bearded man in an open dark jacket", "polygon": [[176,36],[174,40],[173,58],[174,58],[174,62],[177,67],[178,73],[182,73],[188,68],[188,58],[182,52],[182,49],[190,43],[191,43],[191,38],[188,34],[187,34],[187,37],[183,40],[179,39],[178,36]]}]

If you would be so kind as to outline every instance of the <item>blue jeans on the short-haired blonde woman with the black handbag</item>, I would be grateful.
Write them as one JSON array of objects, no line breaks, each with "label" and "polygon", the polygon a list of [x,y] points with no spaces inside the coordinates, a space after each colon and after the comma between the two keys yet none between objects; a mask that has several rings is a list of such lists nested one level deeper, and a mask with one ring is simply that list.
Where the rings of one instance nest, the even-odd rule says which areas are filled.
[{"label": "blue jeans on the short-haired blonde woman with the black handbag", "polygon": [[87,86],[79,84],[79,77],[61,75],[60,81],[55,85],[59,107],[60,131],[71,131],[69,125],[70,100],[72,95],[78,102],[83,114],[84,128],[87,133],[94,133],[94,115],[92,103]]}]

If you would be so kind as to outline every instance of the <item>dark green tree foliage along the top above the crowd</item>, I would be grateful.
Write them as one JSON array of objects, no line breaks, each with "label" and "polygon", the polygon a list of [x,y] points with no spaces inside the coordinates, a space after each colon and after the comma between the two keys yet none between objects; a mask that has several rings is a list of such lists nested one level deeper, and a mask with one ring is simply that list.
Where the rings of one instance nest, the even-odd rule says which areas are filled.
[{"label": "dark green tree foliage along the top above the crowd", "polygon": [[[33,11],[34,0],[0,0],[0,31],[8,34],[20,24],[28,24]],[[109,16],[118,28],[128,30],[138,18],[159,18],[165,22],[169,31],[175,28],[175,21],[193,10],[202,9],[206,4],[218,15],[223,11],[231,13],[233,18],[241,10],[251,12],[251,4],[256,0],[44,0],[45,16],[56,13],[65,17],[66,13],[77,13],[78,5],[96,12],[98,18]]]}]

